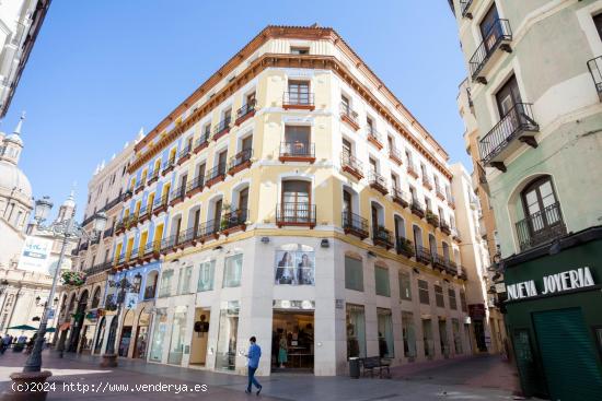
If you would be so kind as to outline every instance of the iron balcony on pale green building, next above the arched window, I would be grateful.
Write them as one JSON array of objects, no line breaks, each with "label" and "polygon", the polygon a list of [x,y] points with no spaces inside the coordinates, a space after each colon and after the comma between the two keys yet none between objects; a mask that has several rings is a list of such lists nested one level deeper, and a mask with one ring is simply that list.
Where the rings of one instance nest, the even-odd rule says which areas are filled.
[{"label": "iron balcony on pale green building, next above the arched window", "polygon": [[521,143],[537,148],[537,142],[535,141],[535,137],[533,137],[533,132],[537,132],[539,130],[540,126],[533,119],[531,105],[526,103],[517,103],[508,110],[500,121],[481,139],[478,146],[483,163],[496,167],[501,172],[506,172],[503,161],[512,152],[519,149]]}]

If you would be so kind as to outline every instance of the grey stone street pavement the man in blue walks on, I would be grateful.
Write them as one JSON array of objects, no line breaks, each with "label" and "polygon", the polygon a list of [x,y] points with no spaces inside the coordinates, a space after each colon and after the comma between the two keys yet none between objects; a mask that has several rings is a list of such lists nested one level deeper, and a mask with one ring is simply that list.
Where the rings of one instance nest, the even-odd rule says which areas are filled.
[{"label": "grey stone street pavement the man in blue walks on", "polygon": [[[0,356],[0,391],[10,386],[9,375],[20,370],[26,355],[7,352]],[[347,377],[314,377],[312,375],[276,374],[259,377],[264,386],[259,399],[291,401],[335,400],[511,400],[508,388],[486,388],[479,377],[486,370],[501,371],[499,357],[471,357],[444,361],[445,363],[415,365],[393,369],[394,379],[359,380]],[[413,366],[413,365],[408,365]],[[48,394],[58,400],[255,400],[244,393],[245,377],[149,364],[141,361],[119,359],[119,367],[103,369],[99,358],[66,354],[58,358],[44,352],[44,368],[53,371],[50,381],[56,386]],[[496,370],[497,369],[497,370]],[[496,373],[497,375],[497,373]],[[481,379],[483,380],[483,379]],[[79,384],[79,389],[78,389]],[[163,385],[159,390],[159,384]],[[128,386],[127,391],[124,386]],[[140,386],[149,385],[147,388]],[[172,385],[170,389],[166,385]],[[207,391],[200,391],[206,385]],[[84,387],[88,386],[88,387]],[[120,386],[120,387],[117,387]],[[135,386],[139,386],[136,388]],[[184,386],[186,390],[183,391]],[[196,391],[194,387],[197,386]],[[83,393],[88,390],[86,393]]]}]

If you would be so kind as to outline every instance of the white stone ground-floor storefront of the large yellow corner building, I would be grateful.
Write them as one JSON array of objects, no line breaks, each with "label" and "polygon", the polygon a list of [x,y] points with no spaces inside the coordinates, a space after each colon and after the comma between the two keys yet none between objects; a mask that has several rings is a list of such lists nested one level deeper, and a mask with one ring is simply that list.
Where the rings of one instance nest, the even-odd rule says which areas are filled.
[{"label": "white stone ground-floor storefront of the large yellow corner building", "polygon": [[[463,281],[331,238],[251,237],[163,262],[148,361],[259,375],[348,374],[349,357],[391,366],[471,355]],[[392,253],[391,257],[387,257]]]}]

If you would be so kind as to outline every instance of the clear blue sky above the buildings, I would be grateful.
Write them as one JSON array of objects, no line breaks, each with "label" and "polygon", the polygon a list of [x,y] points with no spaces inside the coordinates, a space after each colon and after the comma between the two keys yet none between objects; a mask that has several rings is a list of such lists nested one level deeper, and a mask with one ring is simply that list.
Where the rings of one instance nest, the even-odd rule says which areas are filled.
[{"label": "clear blue sky above the buildings", "polygon": [[81,219],[96,164],[140,127],[154,128],[266,25],[314,22],[345,38],[450,162],[470,165],[455,104],[466,72],[445,0],[53,1],[0,129],[27,111],[21,168],[34,197],[58,205],[77,181]]}]

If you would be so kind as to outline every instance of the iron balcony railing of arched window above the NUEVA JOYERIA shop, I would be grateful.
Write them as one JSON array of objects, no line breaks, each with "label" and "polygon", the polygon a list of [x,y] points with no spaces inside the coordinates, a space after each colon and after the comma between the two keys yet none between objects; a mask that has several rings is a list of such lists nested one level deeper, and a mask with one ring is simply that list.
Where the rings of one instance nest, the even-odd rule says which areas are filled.
[{"label": "iron balcony railing of arched window above the NUEVA JOYERIA shop", "polygon": [[516,224],[521,251],[546,244],[567,234],[567,227],[556,202]]}]

